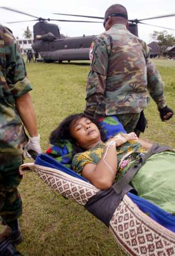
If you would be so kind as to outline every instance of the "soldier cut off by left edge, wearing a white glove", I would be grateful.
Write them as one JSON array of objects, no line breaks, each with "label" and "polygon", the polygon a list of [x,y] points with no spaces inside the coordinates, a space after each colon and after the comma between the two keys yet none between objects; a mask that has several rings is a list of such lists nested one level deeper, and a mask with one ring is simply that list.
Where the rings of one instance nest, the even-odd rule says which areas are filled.
[{"label": "soldier cut off by left edge, wearing a white glove", "polygon": [[22,200],[17,190],[22,176],[18,168],[27,150],[41,152],[40,137],[22,55],[11,31],[1,24],[0,52],[0,255],[19,256],[14,247],[22,241],[18,222]]}]

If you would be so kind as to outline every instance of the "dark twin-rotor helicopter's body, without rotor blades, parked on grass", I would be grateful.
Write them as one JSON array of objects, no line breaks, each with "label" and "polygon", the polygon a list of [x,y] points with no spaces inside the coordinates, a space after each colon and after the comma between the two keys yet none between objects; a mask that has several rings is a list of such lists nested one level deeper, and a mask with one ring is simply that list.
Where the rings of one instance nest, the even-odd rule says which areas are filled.
[{"label": "dark twin-rotor helicopter's body, without rotor blades, parked on grass", "polygon": [[[138,36],[136,24],[129,23],[128,30]],[[91,42],[95,35],[61,38],[59,27],[46,21],[34,25],[34,44],[32,48],[49,61],[89,60]],[[39,38],[40,40],[37,40]]]}]

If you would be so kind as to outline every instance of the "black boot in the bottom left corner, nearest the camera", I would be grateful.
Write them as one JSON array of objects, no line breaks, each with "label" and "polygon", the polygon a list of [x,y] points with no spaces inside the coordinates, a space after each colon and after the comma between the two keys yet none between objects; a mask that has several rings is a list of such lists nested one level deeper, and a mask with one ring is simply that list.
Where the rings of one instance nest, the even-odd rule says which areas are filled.
[{"label": "black boot in the bottom left corner, nearest the camera", "polygon": [[22,256],[19,251],[16,251],[15,247],[12,245],[10,238],[6,238],[4,241],[0,242],[0,255],[3,256]]}]

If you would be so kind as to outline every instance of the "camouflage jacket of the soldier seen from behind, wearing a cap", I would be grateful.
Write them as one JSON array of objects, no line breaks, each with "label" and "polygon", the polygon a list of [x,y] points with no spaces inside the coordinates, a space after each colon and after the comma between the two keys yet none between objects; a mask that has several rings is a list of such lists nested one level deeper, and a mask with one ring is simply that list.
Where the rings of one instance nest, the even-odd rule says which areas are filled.
[{"label": "camouflage jacket of the soldier seen from behind, wearing a cap", "polygon": [[[122,24],[97,36],[91,45],[85,113],[90,118],[140,113],[149,94],[164,108],[164,84],[149,59],[149,48]],[[149,93],[148,93],[149,91]]]}]

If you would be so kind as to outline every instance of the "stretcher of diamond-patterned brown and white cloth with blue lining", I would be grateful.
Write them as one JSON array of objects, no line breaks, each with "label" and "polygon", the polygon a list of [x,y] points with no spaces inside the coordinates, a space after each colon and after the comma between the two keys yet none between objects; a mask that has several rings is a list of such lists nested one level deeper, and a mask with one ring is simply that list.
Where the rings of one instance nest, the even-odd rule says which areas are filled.
[{"label": "stretcher of diamond-patterned brown and white cloth with blue lining", "polygon": [[51,189],[76,201],[103,221],[116,241],[116,255],[175,255],[175,217],[132,192],[99,191],[84,177],[46,154],[20,166]]}]

